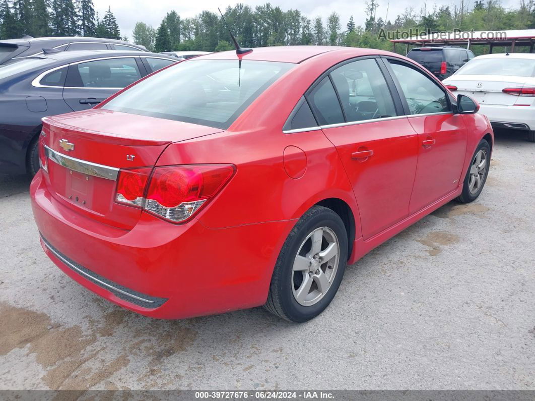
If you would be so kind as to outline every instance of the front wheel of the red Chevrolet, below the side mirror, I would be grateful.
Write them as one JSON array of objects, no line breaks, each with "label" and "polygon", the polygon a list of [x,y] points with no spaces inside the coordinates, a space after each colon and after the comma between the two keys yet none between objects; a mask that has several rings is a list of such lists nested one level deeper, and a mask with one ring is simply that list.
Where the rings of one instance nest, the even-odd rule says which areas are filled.
[{"label": "front wheel of the red Chevrolet, below the side mirror", "polygon": [[[483,160],[484,158],[484,160]],[[475,201],[487,180],[488,170],[491,166],[491,147],[482,139],[470,161],[467,175],[464,177],[463,191],[455,200],[460,203]]]}]

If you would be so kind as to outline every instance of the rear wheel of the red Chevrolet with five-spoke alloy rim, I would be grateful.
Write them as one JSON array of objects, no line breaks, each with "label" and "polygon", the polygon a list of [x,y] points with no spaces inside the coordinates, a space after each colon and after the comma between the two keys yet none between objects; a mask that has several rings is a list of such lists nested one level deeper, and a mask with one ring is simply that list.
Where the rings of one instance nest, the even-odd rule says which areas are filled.
[{"label": "rear wheel of the red Chevrolet with five-spoke alloy rim", "polygon": [[296,323],[322,313],[338,291],[347,252],[347,231],[340,216],[323,206],[310,208],[282,246],[264,308]]}]

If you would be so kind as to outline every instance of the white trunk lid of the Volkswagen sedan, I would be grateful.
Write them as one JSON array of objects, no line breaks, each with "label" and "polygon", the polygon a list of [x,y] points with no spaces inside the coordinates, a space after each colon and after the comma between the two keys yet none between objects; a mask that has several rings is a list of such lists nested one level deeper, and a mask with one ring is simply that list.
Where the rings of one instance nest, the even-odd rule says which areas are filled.
[{"label": "white trunk lid of the Volkswagen sedan", "polygon": [[510,87],[521,88],[526,83],[526,77],[510,77],[506,75],[453,75],[447,85],[457,87],[456,94],[473,97],[480,104],[513,105],[518,96],[503,93]]}]

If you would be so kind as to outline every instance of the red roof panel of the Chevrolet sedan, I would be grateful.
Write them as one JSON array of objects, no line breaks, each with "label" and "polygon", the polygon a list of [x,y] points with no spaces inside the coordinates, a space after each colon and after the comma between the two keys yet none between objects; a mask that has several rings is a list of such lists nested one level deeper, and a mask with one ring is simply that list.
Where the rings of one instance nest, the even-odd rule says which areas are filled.
[{"label": "red roof panel of the Chevrolet sedan", "polygon": [[328,51],[335,50],[347,50],[353,49],[359,55],[365,54],[378,54],[379,50],[375,49],[360,49],[341,46],[271,46],[271,47],[258,47],[253,51],[242,54],[240,57],[236,55],[235,50],[219,51],[204,56],[195,57],[195,60],[208,60],[208,59],[238,59],[243,60],[263,60],[285,63],[301,63],[302,61],[326,53]]}]

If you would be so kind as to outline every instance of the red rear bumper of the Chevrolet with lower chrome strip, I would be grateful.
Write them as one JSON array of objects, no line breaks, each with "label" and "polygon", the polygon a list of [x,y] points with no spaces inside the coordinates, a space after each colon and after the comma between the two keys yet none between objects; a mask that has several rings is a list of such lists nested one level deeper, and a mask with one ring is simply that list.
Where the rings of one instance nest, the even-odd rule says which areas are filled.
[{"label": "red rear bumper of the Chevrolet with lower chrome strip", "polygon": [[42,174],[30,186],[41,245],[89,290],[164,319],[264,304],[292,221],[212,230],[195,219],[175,225],[142,213],[132,230],[120,230],[67,210]]}]

